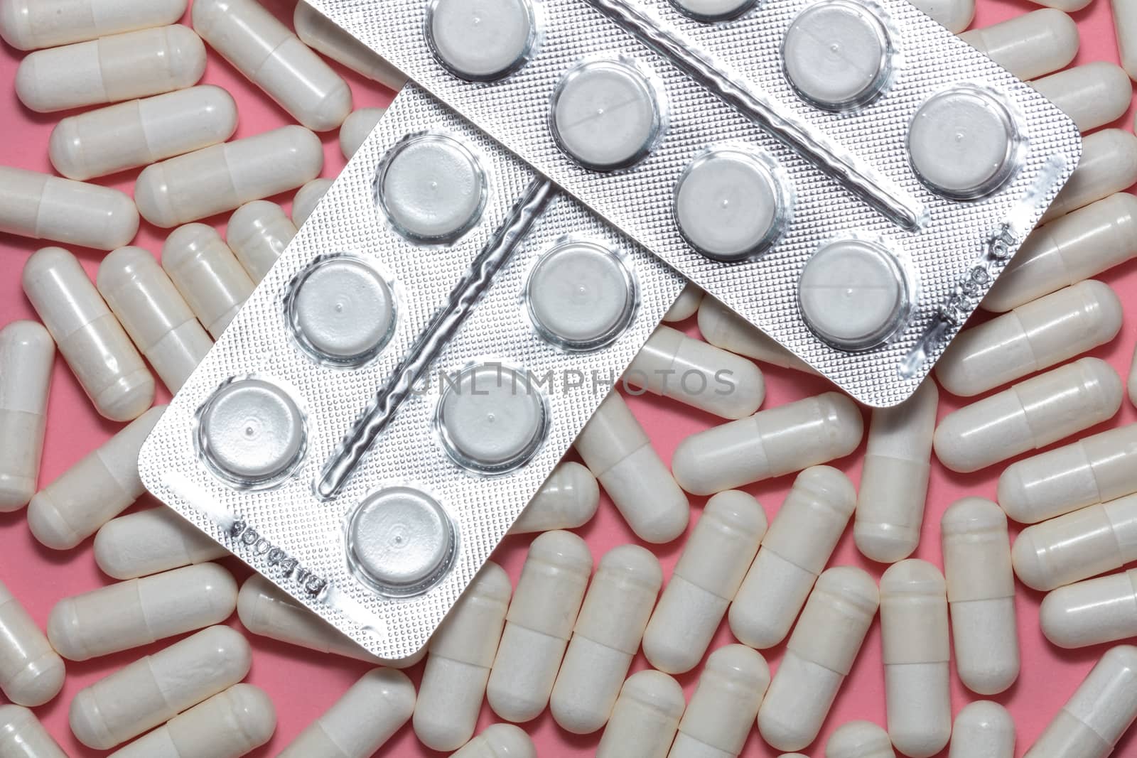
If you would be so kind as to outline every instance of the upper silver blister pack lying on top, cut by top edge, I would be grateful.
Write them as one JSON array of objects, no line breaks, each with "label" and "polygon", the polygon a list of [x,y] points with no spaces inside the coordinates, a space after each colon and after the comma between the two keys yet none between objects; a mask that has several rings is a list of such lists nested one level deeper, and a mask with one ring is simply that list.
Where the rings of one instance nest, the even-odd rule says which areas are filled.
[{"label": "upper silver blister pack lying on top, cut by top edge", "polygon": [[904,0],[310,0],[854,398],[915,391],[1073,123]]}]

